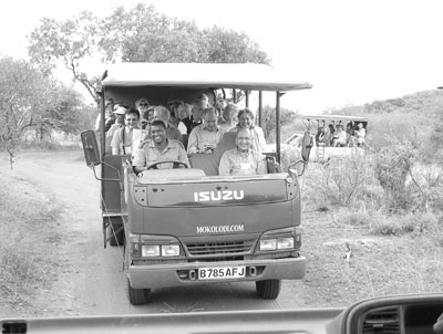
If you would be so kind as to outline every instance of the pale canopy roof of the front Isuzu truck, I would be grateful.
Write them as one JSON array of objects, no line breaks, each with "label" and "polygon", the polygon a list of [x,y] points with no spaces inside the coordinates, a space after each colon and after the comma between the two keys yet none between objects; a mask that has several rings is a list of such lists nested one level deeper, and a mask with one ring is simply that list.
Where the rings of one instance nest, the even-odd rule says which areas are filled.
[{"label": "pale canopy roof of the front Isuzu truck", "polygon": [[102,85],[282,92],[312,86],[293,81],[268,65],[222,63],[120,63],[111,65],[103,74]]}]

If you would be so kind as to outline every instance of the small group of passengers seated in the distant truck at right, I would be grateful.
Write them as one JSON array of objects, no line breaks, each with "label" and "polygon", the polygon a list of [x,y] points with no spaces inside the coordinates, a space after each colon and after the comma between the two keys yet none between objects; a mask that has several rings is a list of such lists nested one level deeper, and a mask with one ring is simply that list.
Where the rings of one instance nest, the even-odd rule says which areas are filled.
[{"label": "small group of passengers seated in the distant truck at right", "polygon": [[363,123],[353,122],[347,124],[347,129],[342,124],[334,126],[329,124],[328,127],[320,126],[316,135],[318,144],[332,147],[344,147],[344,146],[364,146],[367,131]]}]

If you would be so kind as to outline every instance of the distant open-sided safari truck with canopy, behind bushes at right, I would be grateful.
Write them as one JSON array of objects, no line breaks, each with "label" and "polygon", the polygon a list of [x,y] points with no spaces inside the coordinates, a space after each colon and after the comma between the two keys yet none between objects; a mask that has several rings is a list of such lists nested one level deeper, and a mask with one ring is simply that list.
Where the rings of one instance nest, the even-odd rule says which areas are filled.
[{"label": "distant open-sided safari truck with canopy, behind bushes at right", "polygon": [[[317,143],[317,133],[320,127],[324,127],[328,131],[328,126],[332,125],[334,128],[337,125],[342,125],[344,131],[347,126],[350,125],[352,131],[357,128],[357,125],[361,123],[363,128],[368,133],[368,118],[346,116],[346,115],[315,115],[315,116],[303,116],[301,118],[306,126],[306,131],[310,133],[311,136],[311,150],[309,156],[309,161],[312,163],[324,163],[328,161],[333,156],[350,156],[352,154],[364,154],[362,147],[358,147],[357,143],[350,138],[347,145],[331,146],[330,143]],[[301,148],[301,143],[305,134],[297,133],[287,138],[282,147],[299,147]]]}]

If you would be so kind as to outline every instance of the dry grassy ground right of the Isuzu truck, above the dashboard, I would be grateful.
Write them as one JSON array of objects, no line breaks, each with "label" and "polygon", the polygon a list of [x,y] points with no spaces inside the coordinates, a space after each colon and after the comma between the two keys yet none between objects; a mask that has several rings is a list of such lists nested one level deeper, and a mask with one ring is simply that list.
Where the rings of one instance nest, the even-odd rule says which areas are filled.
[{"label": "dry grassy ground right of the Isuzu truck, above the dashboard", "polygon": [[[441,292],[442,237],[429,230],[403,230],[419,217],[395,220],[399,226],[391,223],[385,233],[374,233],[368,223],[373,223],[380,212],[348,213],[348,219],[343,211],[309,212],[303,218],[302,253],[308,269],[302,298],[309,306],[343,306],[372,296]],[[433,222],[429,217],[420,221]],[[352,251],[349,262],[348,247]]]}]

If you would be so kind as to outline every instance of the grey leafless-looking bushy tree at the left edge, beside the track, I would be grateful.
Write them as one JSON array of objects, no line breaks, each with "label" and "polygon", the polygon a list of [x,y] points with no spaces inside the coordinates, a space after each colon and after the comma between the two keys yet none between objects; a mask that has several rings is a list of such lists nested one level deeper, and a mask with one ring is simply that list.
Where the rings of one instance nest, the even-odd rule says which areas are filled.
[{"label": "grey leafless-looking bushy tree at the left edge, beside the track", "polygon": [[0,145],[12,167],[17,145],[29,131],[38,139],[53,129],[78,133],[84,117],[81,96],[30,63],[0,59]]}]

